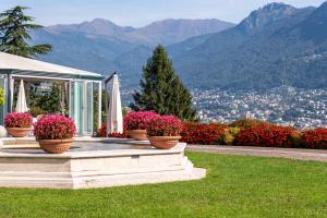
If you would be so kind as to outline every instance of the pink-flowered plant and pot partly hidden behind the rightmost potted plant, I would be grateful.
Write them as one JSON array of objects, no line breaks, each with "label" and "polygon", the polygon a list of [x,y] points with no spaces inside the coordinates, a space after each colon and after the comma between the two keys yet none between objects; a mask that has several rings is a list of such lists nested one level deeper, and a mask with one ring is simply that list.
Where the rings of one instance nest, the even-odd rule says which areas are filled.
[{"label": "pink-flowered plant and pot partly hidden behind the rightmost potted plant", "polygon": [[152,111],[130,112],[124,117],[124,129],[132,138],[144,141],[146,137],[146,129],[148,123],[158,117]]}]

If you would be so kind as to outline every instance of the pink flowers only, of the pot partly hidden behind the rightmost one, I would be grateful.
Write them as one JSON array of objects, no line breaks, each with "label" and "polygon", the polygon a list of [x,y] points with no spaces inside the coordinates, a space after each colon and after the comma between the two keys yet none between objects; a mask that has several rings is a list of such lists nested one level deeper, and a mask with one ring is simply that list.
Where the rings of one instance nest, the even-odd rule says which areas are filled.
[{"label": "pink flowers only, of the pot partly hidden behind the rightmost one", "polygon": [[125,130],[146,130],[148,123],[158,117],[157,113],[152,111],[133,111],[124,117]]}]

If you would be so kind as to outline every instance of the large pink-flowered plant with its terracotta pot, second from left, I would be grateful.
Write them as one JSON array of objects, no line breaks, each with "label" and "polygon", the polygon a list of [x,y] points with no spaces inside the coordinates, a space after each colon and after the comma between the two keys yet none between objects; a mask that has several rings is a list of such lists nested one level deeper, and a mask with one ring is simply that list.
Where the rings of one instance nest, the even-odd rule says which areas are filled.
[{"label": "large pink-flowered plant with its terracotta pot, second from left", "polygon": [[75,133],[74,121],[59,114],[44,116],[34,125],[34,135],[40,148],[51,154],[69,150]]}]

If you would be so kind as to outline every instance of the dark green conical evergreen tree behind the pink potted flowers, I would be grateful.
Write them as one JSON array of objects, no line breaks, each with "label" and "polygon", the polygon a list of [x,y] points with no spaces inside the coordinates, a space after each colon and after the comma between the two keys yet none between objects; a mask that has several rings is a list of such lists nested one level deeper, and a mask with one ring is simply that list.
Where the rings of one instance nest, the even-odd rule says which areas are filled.
[{"label": "dark green conical evergreen tree behind the pink potted flowers", "polygon": [[174,114],[182,120],[196,120],[192,96],[174,73],[172,61],[159,45],[143,68],[142,90],[133,95],[133,110],[153,110],[159,114]]}]

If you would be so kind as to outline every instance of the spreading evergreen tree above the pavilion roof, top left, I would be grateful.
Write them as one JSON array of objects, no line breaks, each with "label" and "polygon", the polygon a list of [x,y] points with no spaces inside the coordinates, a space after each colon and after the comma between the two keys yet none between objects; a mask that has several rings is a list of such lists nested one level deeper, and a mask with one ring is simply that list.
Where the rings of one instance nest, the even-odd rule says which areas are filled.
[{"label": "spreading evergreen tree above the pavilion roof, top left", "polygon": [[48,44],[29,46],[31,36],[28,31],[38,29],[43,26],[31,24],[32,16],[24,14],[27,8],[15,7],[0,13],[0,51],[34,58],[36,55],[45,55],[51,51]]}]

